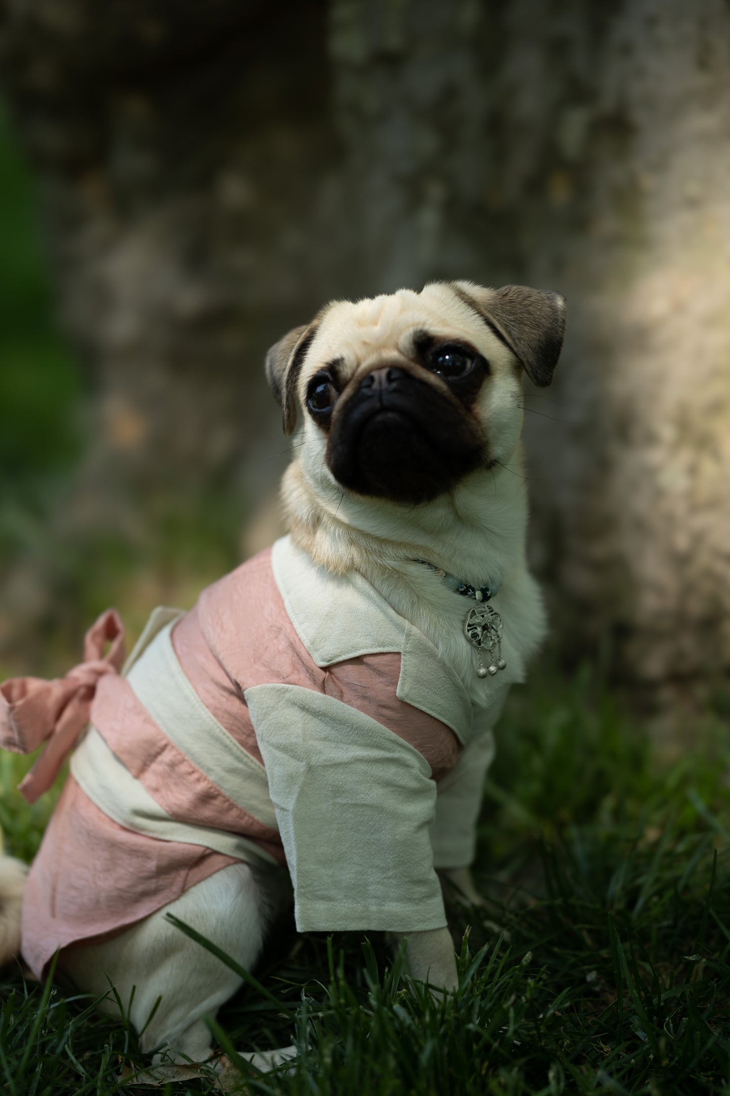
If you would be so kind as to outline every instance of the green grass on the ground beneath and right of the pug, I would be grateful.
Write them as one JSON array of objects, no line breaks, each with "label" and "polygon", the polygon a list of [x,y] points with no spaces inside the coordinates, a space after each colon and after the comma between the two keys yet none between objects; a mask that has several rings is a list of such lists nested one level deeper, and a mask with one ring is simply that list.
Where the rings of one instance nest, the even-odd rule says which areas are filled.
[{"label": "green grass on the ground beneath and right of the pug", "polygon": [[[459,992],[434,1003],[378,934],[283,924],[256,972],[268,995],[245,986],[215,1034],[232,1054],[292,1039],[302,1053],[288,1075],[241,1063],[242,1091],[730,1094],[730,726],[716,707],[662,762],[588,671],[536,674],[502,719],[488,784],[488,906],[451,911]],[[10,792],[20,767],[3,757],[1,819],[28,855],[47,808]],[[13,969],[0,995],[3,1091],[137,1091],[119,1080],[144,1064],[123,1024]]]}]

